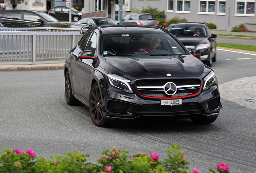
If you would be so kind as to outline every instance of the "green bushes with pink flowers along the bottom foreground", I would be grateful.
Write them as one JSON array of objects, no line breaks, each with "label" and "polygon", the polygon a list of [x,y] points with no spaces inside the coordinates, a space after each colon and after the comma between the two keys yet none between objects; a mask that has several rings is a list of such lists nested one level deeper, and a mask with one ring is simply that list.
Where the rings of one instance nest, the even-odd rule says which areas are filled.
[{"label": "green bushes with pink flowers along the bottom foreground", "polygon": [[[184,159],[184,151],[178,145],[167,149],[167,159],[159,161],[157,153],[137,153],[112,148],[103,151],[98,164],[88,163],[87,157],[74,151],[64,153],[67,157],[50,157],[52,160],[38,158],[35,151],[26,153],[19,149],[0,151],[0,173],[200,173],[196,168],[188,170],[189,162]],[[229,166],[219,163],[215,168],[219,173],[230,173]],[[216,173],[213,169],[210,172]]]}]

